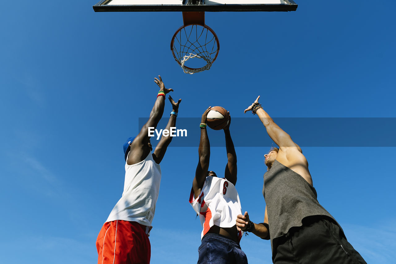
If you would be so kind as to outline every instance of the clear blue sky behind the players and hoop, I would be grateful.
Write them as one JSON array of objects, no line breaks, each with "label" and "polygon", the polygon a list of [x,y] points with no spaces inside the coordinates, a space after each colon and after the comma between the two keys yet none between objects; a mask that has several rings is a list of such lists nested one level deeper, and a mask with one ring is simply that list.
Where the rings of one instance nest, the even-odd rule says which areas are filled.
[{"label": "clear blue sky behind the players and hoop", "polygon": [[[96,2],[2,4],[4,263],[97,261],[97,234],[123,190],[122,144],[148,116],[158,74],[175,90],[172,97],[183,99],[182,118],[199,118],[209,105],[252,118],[243,111],[257,95],[274,118],[396,117],[388,2],[301,1],[288,13],[206,13],[221,48],[210,70],[193,75],[183,73],[169,49],[181,13],[95,13]],[[171,111],[166,103],[164,117]],[[310,132],[299,128],[295,138]],[[345,129],[335,128],[335,138],[345,142]],[[264,127],[231,124],[230,130],[253,142],[268,137]],[[209,131],[209,139],[219,133]],[[367,263],[390,263],[396,258],[395,148],[366,146],[303,152],[318,200],[350,243]],[[255,222],[264,217],[269,148],[236,148],[236,187]],[[170,147],[161,163],[150,236],[154,264],[198,258],[201,226],[188,204],[197,156],[197,146]],[[225,163],[225,148],[212,148],[209,168],[219,174]],[[241,247],[249,263],[271,263],[269,241],[251,235]]]}]

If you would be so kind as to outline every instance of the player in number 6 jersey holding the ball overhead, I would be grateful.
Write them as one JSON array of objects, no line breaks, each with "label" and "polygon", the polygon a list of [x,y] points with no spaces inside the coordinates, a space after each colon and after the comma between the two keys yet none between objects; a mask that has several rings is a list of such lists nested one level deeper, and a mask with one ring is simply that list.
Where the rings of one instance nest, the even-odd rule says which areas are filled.
[{"label": "player in number 6 jersey holding the ball overhead", "polygon": [[[239,241],[242,232],[236,228],[236,217],[241,204],[236,184],[236,153],[230,135],[230,122],[224,128],[227,158],[224,178],[217,178],[209,169],[210,145],[206,131],[206,118],[210,106],[201,119],[199,161],[192,182],[190,204],[199,215],[203,231],[198,249],[198,264],[247,264]],[[228,115],[230,113],[228,112]]]}]

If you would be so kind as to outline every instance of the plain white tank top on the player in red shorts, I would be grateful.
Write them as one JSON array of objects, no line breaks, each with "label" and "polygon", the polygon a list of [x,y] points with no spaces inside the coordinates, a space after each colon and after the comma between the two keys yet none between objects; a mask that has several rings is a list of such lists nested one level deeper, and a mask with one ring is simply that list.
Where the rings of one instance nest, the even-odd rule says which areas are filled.
[{"label": "plain white tank top on the player in red shorts", "polygon": [[139,163],[125,163],[124,192],[106,222],[133,221],[147,226],[150,234],[155,205],[160,192],[161,167],[155,163],[151,152]]}]

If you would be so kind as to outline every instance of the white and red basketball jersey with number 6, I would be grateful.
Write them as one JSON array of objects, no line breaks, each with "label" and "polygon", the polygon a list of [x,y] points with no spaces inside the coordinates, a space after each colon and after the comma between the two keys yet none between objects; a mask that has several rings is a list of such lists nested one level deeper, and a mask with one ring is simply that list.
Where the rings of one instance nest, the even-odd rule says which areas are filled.
[{"label": "white and red basketball jersey with number 6", "polygon": [[[234,184],[225,178],[206,177],[202,191],[196,199],[191,189],[190,204],[201,220],[201,239],[213,225],[221,228],[235,226],[237,215],[242,214],[238,192]],[[238,238],[241,237],[242,232],[239,232]]]}]

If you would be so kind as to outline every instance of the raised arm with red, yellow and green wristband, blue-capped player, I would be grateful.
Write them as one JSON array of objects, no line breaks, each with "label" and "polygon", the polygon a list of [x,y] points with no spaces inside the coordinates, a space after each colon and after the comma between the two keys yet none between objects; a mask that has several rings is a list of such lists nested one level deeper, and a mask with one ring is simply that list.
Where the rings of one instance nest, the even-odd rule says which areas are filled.
[{"label": "raised arm with red, yellow and green wristband, blue-capped player", "polygon": [[157,99],[154,103],[154,106],[150,112],[150,117],[148,118],[147,123],[143,125],[139,134],[135,138],[133,142],[131,142],[131,150],[128,156],[128,165],[136,164],[142,160],[144,160],[148,153],[151,151],[150,137],[148,136],[148,128],[157,127],[158,122],[162,118],[162,114],[164,113],[165,106],[165,95],[173,89],[166,89],[164,82],[162,82],[161,76],[159,76],[159,80],[154,78],[154,82],[160,87],[160,91],[158,92]]}]

